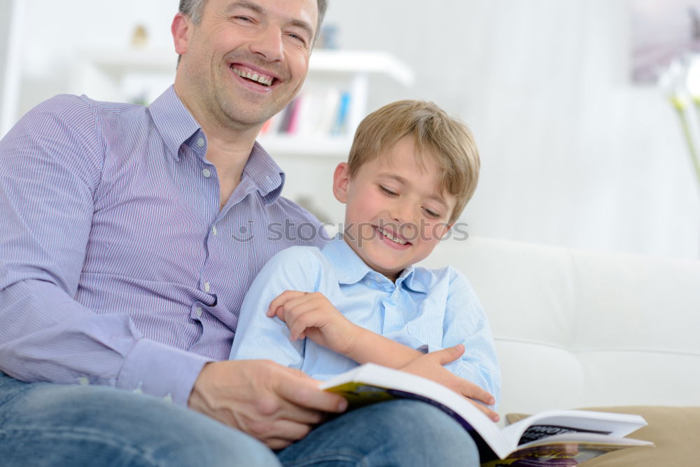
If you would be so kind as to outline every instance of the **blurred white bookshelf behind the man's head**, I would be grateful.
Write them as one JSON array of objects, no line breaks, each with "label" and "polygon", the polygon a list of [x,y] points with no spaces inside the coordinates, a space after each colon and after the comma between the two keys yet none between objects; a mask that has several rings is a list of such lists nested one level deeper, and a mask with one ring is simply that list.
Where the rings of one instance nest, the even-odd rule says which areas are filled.
[{"label": "blurred white bookshelf behind the man's head", "polygon": [[[70,79],[71,92],[99,100],[147,104],[172,83],[175,65],[176,55],[172,50],[87,51],[78,57]],[[299,110],[298,118],[306,121],[308,115],[316,119],[325,117],[328,127],[317,130],[323,126],[321,123],[307,123],[299,132],[284,132],[278,123],[276,129],[261,133],[258,141],[274,155],[346,155],[352,134],[367,113],[367,96],[374,76],[384,76],[405,87],[414,83],[413,70],[389,53],[314,50],[297,102],[307,113]],[[339,118],[341,99],[345,99],[345,109]],[[282,111],[276,118],[286,112]],[[328,125],[328,119],[334,121]]]}]

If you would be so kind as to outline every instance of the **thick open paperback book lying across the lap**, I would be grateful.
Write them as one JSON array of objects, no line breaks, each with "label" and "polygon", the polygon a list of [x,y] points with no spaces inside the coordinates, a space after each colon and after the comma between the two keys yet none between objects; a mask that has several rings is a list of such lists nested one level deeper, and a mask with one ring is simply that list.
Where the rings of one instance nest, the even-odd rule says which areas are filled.
[{"label": "thick open paperback book lying across the lap", "polygon": [[320,387],[342,394],[351,407],[393,398],[435,405],[470,431],[479,446],[482,466],[556,466],[559,464],[552,463],[553,459],[580,463],[624,447],[652,445],[623,438],[647,424],[638,415],[555,410],[499,428],[469,400],[442,384],[372,363],[332,377]]}]

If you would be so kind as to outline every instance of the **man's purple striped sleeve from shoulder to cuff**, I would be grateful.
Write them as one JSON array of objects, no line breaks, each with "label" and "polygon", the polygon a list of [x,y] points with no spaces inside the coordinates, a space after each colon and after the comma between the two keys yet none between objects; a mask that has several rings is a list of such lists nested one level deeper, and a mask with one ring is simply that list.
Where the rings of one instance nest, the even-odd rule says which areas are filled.
[{"label": "man's purple striped sleeve from shoulder to cuff", "polygon": [[0,141],[0,369],[186,404],[208,358],[145,339],[119,310],[96,314],[74,300],[102,163],[92,109],[78,97],[44,102]]}]

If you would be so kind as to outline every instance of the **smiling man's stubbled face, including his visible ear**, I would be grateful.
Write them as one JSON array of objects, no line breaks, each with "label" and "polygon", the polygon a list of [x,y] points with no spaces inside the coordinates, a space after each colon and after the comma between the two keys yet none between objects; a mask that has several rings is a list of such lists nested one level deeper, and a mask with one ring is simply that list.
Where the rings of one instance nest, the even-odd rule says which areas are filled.
[{"label": "smiling man's stubbled face, including his visible ear", "polygon": [[208,0],[199,25],[176,16],[176,90],[200,120],[262,125],[304,83],[317,18],[316,0]]}]

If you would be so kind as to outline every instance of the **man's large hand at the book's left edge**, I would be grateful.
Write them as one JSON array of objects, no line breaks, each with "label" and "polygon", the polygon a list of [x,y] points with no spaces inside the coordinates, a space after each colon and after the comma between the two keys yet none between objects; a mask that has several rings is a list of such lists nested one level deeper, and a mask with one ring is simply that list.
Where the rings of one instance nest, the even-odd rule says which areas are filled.
[{"label": "man's large hand at the book's left edge", "polygon": [[237,428],[271,449],[300,440],[324,412],[343,412],[342,396],[321,391],[299,370],[267,360],[220,361],[204,365],[188,405]]}]

